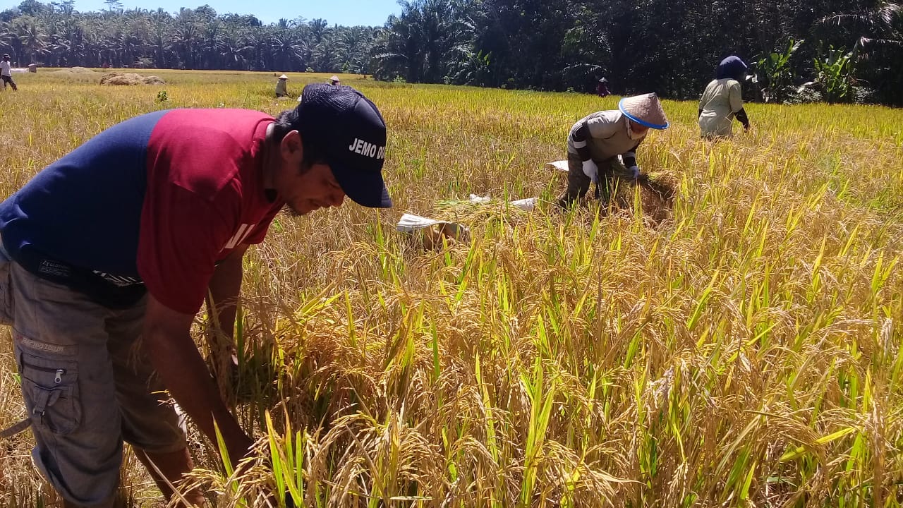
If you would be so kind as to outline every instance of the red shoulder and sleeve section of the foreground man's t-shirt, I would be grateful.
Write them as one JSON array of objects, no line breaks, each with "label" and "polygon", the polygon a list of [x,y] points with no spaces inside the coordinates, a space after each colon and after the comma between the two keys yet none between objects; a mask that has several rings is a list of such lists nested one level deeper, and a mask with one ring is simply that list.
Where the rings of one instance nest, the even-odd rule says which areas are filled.
[{"label": "red shoulder and sleeve section of the foreground man's t-shirt", "polygon": [[174,109],[147,144],[137,268],[151,295],[198,312],[216,263],[264,240],[284,202],[269,202],[262,148],[274,119],[245,109]]}]

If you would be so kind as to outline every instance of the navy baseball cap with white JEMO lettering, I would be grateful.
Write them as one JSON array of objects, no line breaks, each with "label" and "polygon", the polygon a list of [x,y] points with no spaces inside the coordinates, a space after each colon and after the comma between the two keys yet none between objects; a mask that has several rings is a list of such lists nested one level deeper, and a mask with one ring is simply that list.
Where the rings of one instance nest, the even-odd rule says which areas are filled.
[{"label": "navy baseball cap with white JEMO lettering", "polygon": [[383,181],[386,122],[377,105],[351,87],[315,83],[304,87],[298,109],[323,127],[326,162],[345,195],[363,206],[390,208]]}]

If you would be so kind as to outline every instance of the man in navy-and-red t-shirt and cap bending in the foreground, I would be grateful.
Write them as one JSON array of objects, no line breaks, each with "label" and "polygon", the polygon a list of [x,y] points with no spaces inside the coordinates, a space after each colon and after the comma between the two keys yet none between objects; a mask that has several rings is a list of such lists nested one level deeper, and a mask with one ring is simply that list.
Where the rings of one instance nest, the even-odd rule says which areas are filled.
[{"label": "man in navy-and-red t-shirt and cap bending in the foreground", "polygon": [[214,443],[219,428],[233,466],[251,453],[191,324],[206,299],[231,340],[242,257],[280,210],[346,195],[391,206],[385,150],[377,107],[322,83],[277,118],[215,108],[128,119],[0,203],[0,319],[13,325],[34,464],[65,506],[112,506],[124,441],[172,496],[166,482],[191,457],[161,390]]}]

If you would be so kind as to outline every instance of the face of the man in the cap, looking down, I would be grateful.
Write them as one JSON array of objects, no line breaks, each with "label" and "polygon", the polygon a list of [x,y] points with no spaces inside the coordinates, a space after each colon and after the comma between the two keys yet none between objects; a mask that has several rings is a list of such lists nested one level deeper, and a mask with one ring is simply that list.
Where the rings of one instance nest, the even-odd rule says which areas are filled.
[{"label": "face of the man in the cap, looking down", "polygon": [[282,174],[282,178],[276,179],[276,191],[294,215],[341,206],[345,201],[345,193],[336,182],[330,165],[315,164],[303,173],[295,166],[293,171],[288,169]]}]

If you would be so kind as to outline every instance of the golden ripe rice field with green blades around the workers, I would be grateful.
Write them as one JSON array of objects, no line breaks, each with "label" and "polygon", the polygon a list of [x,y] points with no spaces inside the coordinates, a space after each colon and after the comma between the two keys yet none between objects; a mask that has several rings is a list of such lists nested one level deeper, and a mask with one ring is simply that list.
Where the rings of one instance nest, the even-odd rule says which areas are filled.
[{"label": "golden ripe rice field with green blades around the workers", "polygon": [[[16,75],[0,198],[140,113],[295,105],[271,73],[139,72],[166,84]],[[903,111],[749,104],[752,130],[712,143],[664,101],[638,162],[673,202],[626,185],[561,212],[545,163],[618,98],[342,78],[386,118],[396,208],[282,215],[249,251],[221,388],[265,460],[233,472],[190,427],[210,506],[903,504]],[[470,242],[424,249],[404,212]],[[0,428],[24,415],[14,370],[4,331]],[[0,441],[0,505],[61,506],[31,447]],[[121,483],[163,505],[129,451]]]}]

